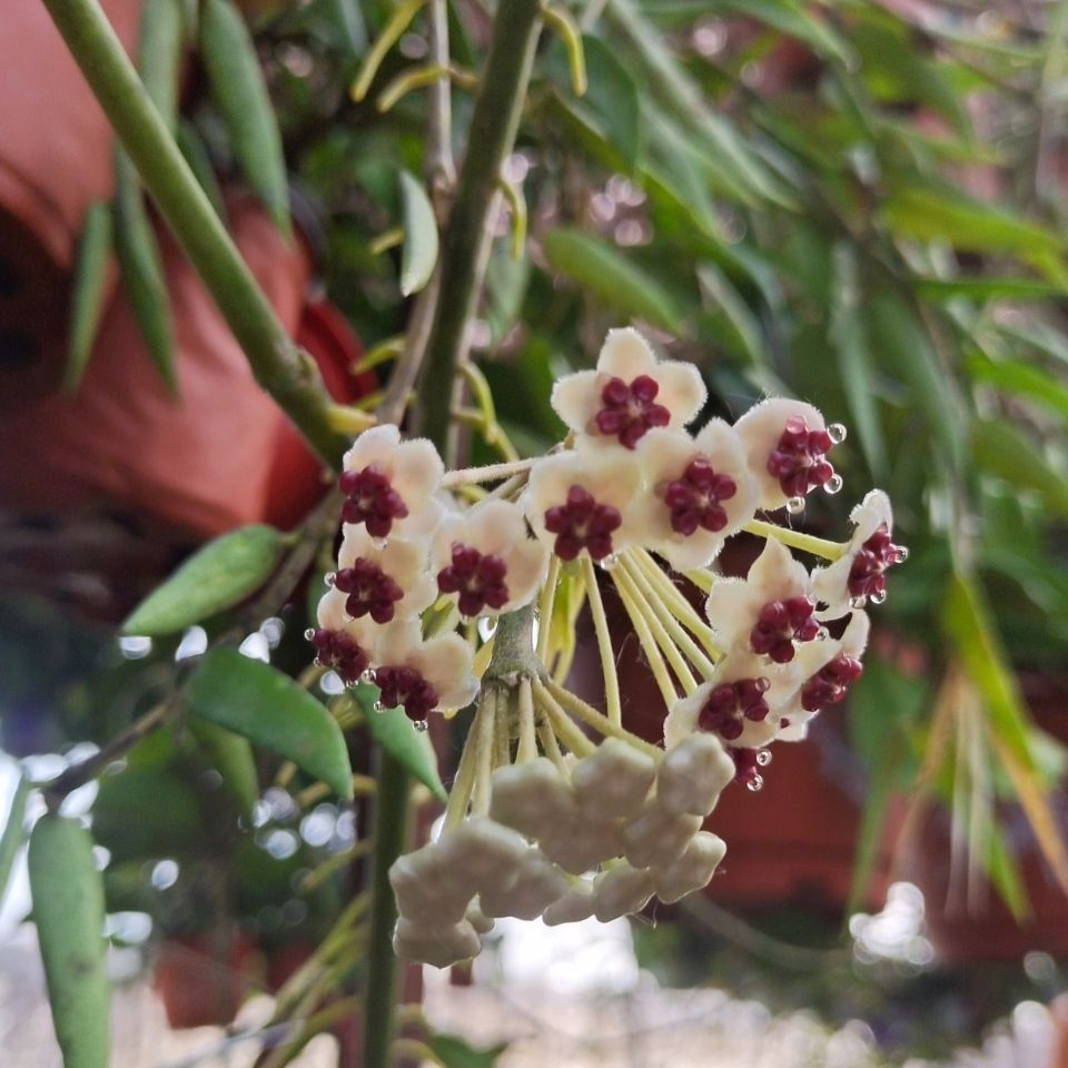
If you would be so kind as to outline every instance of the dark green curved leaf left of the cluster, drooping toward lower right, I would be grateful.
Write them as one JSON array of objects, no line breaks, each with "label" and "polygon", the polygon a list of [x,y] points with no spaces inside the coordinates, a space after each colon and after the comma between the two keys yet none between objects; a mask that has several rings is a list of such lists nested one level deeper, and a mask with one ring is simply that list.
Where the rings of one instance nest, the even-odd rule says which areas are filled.
[{"label": "dark green curved leaf left of the cluster, drooping toward lower right", "polygon": [[185,691],[194,715],[291,760],[343,798],[353,797],[353,769],[340,728],[288,675],[236,649],[215,649]]}]

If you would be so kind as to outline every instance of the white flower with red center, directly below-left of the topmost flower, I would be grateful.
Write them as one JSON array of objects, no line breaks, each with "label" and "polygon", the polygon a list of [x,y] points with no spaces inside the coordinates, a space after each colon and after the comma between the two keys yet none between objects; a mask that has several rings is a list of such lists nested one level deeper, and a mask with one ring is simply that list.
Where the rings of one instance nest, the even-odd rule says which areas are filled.
[{"label": "white flower with red center, directly below-left of the topmost flower", "polygon": [[534,533],[561,560],[613,556],[641,538],[639,465],[625,454],[564,453],[538,461],[522,505]]}]

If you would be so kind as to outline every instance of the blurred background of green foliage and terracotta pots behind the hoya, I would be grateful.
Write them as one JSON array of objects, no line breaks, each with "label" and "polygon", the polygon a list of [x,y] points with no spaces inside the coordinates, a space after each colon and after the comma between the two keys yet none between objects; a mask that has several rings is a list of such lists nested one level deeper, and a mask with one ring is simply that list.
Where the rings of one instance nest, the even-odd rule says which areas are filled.
[{"label": "blurred background of green foliage and terracotta pots behind the hoya", "polygon": [[[95,752],[233,622],[117,639],[145,593],[206,540],[291,527],[324,492],[44,9],[9,7],[0,812],[20,764],[43,780]],[[281,146],[265,160],[195,0],[103,7],[286,329],[337,400],[374,406],[412,312],[399,175],[427,162],[422,17],[354,102],[393,4],[243,3]],[[848,706],[779,746],[762,792],[724,795],[710,825],[728,860],[706,894],[566,937],[498,926],[473,977],[424,977],[432,1025],[472,1047],[439,1056],[1068,1064],[1049,1008],[1068,986],[1068,4],[590,0],[572,14],[589,87],[576,95],[575,49],[546,31],[473,326],[511,443],[557,441],[553,380],[632,322],[701,369],[705,417],[774,394],[844,423],[849,492],[810,505],[807,528],[841,536],[880,486],[911,555]],[[448,4],[457,156],[492,18]],[[467,459],[508,455],[466,422]],[[303,602],[243,650],[299,673]],[[655,734],[649,680],[627,666],[630,723]],[[263,756],[245,808],[225,762],[210,738],[160,734],[67,802],[92,807],[100,846],[116,1064],[251,1064],[241,1034],[359,878],[358,808],[263,790],[277,771]],[[0,1036],[13,1062],[44,1066],[58,1054],[28,978],[28,907],[17,858]],[[300,1062],[333,1064],[352,1045],[337,1031]]]}]

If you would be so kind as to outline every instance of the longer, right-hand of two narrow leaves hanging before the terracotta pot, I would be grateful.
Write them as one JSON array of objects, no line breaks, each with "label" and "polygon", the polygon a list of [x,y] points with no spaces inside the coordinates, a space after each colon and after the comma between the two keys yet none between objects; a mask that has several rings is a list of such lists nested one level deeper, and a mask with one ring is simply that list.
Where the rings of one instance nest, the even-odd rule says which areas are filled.
[{"label": "longer, right-hand of two narrow leaves hanging before the terracotta pot", "polygon": [[159,246],[137,172],[121,149],[115,154],[115,250],[138,330],[164,385],[177,396],[174,329]]}]

